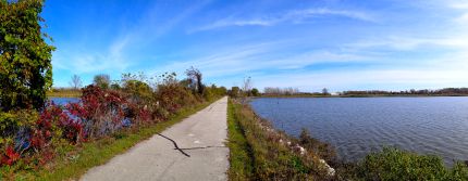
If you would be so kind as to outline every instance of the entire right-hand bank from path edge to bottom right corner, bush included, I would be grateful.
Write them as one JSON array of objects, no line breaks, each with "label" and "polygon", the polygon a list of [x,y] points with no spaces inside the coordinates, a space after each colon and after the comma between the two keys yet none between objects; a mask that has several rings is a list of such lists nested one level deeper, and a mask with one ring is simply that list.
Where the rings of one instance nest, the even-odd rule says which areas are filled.
[{"label": "entire right-hand bank from path edge to bottom right corner, bush included", "polygon": [[[322,143],[309,135],[301,134],[297,141],[306,147],[307,154],[294,153],[279,141],[278,135],[284,139],[282,133],[262,128],[258,124],[262,119],[257,118],[248,106],[231,100],[227,121],[231,180],[468,180],[468,168],[463,163],[448,168],[441,157],[391,147],[369,154],[359,163],[335,160],[335,176],[327,177],[315,160],[320,157],[333,160],[332,157],[327,158],[327,153],[321,153],[331,151],[313,151]],[[291,140],[295,142],[295,139]],[[308,155],[315,159],[304,159]]]}]

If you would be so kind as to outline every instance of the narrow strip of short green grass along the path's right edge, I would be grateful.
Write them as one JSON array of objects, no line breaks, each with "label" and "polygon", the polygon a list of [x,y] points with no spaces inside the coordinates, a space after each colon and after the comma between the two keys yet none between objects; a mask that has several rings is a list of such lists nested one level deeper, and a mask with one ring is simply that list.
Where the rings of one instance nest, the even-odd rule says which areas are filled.
[{"label": "narrow strip of short green grass along the path's right edge", "polygon": [[227,104],[227,132],[230,147],[230,180],[247,180],[254,174],[251,147],[248,144],[244,129],[239,125],[234,114],[234,105],[229,101]]}]

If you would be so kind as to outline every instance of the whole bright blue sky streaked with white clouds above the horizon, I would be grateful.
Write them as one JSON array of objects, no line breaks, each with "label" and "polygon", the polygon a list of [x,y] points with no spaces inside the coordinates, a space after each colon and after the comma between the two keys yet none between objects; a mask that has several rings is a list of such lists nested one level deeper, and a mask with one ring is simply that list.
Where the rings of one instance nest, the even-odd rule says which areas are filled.
[{"label": "whole bright blue sky streaked with white clouds above the horizon", "polygon": [[466,0],[47,0],[54,87],[183,73],[303,91],[468,87]]}]

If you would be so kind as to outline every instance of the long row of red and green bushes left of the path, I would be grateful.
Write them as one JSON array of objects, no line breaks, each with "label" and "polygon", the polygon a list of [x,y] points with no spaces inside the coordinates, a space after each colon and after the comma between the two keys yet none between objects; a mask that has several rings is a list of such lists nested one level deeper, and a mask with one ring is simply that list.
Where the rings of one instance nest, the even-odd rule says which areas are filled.
[{"label": "long row of red and green bushes left of the path", "polygon": [[[65,152],[82,142],[122,134],[118,131],[126,127],[167,120],[181,108],[204,101],[178,82],[175,74],[163,77],[156,91],[144,79],[126,77],[119,89],[83,88],[78,103],[61,106],[48,102],[40,112],[0,112],[0,167],[13,165],[2,167],[0,174],[44,167],[57,156],[66,157],[70,153]],[[207,99],[218,96],[220,88],[213,88]]]}]

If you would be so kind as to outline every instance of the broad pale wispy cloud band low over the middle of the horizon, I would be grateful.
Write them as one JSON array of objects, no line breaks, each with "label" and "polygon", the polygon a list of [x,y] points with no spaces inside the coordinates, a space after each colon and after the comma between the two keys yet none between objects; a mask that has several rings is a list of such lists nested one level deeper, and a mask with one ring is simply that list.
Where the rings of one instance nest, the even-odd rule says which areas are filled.
[{"label": "broad pale wispy cloud band low over the middle of the horizon", "polygon": [[327,50],[286,53],[285,48],[294,47],[294,43],[297,42],[281,41],[231,47],[225,51],[218,51],[214,54],[202,55],[189,61],[174,61],[174,63],[150,72],[161,73],[171,69],[183,73],[187,67],[196,66],[207,77],[215,78],[256,74],[264,70],[297,70],[317,64],[365,63],[373,60],[366,55]]}]

